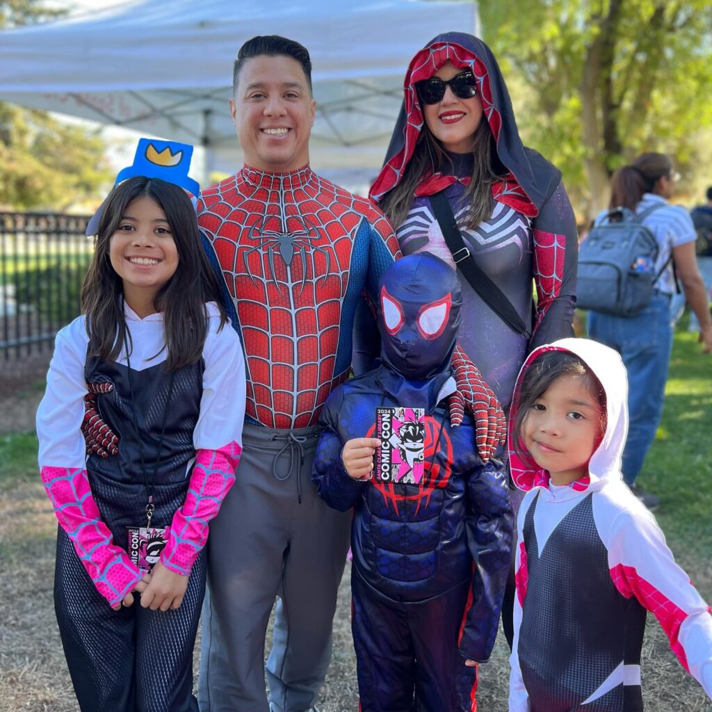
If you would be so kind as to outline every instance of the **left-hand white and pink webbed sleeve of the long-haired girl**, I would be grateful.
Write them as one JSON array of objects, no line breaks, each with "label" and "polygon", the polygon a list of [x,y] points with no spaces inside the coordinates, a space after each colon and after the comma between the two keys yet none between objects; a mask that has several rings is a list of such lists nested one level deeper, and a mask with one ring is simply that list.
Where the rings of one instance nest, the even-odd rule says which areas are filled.
[{"label": "left-hand white and pink webbed sleeve of the long-haired girl", "polygon": [[47,389],[37,410],[39,465],[61,528],[97,590],[114,605],[141,580],[141,574],[127,553],[113,543],[89,486],[80,431],[87,390],[86,346],[81,319],[57,335]]}]

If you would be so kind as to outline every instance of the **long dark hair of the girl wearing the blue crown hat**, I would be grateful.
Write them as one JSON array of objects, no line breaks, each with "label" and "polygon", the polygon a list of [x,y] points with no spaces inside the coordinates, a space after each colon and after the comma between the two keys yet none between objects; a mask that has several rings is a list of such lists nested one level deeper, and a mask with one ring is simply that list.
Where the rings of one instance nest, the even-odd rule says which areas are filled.
[{"label": "long dark hair of the girl wearing the blue crown hat", "polygon": [[208,330],[207,302],[220,310],[219,329],[226,323],[220,303],[220,286],[201,246],[195,209],[177,185],[157,178],[130,178],[110,192],[104,204],[99,234],[81,291],[86,315],[89,354],[115,361],[125,348],[132,350],[123,312],[123,283],[111,266],[110,244],[131,201],[148,197],[166,214],[178,252],[178,266],[155,298],[163,313],[167,350],[166,370],[176,370],[200,360]]}]

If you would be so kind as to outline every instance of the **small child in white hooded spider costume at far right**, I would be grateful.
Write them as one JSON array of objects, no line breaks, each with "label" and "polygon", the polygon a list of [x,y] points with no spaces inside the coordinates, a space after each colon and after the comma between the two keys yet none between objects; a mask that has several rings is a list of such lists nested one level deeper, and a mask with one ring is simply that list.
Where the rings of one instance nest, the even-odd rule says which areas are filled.
[{"label": "small child in white hooded spider costume at far right", "polygon": [[622,481],[625,367],[585,339],[522,368],[509,431],[518,515],[510,712],[640,712],[646,610],[712,695],[712,617]]}]

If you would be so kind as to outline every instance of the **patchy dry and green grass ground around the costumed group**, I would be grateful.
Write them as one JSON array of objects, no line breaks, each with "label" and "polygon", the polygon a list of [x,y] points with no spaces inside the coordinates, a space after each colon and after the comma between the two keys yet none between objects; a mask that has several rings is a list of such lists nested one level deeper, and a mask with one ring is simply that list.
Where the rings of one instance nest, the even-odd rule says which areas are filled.
[{"label": "patchy dry and green grass ground around the costumed group", "polygon": [[[683,325],[684,326],[684,325]],[[0,405],[1,407],[1,405]],[[0,712],[75,712],[52,603],[56,521],[36,472],[36,436],[0,436]],[[712,355],[676,333],[663,421],[639,482],[659,495],[661,528],[701,595],[712,601]],[[355,712],[348,578],[340,590],[322,712]],[[500,636],[481,666],[480,712],[507,708],[508,650]],[[649,617],[643,651],[646,712],[712,712]]]}]

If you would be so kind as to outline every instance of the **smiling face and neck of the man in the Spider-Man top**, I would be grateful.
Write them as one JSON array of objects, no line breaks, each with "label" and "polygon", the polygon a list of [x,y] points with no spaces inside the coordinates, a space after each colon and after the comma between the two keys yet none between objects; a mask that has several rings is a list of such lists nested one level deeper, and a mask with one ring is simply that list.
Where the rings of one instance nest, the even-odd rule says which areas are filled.
[{"label": "smiling face and neck of the man in the Spider-Man top", "polygon": [[230,113],[245,162],[269,172],[288,172],[309,162],[315,101],[300,63],[260,55],[240,69]]}]

